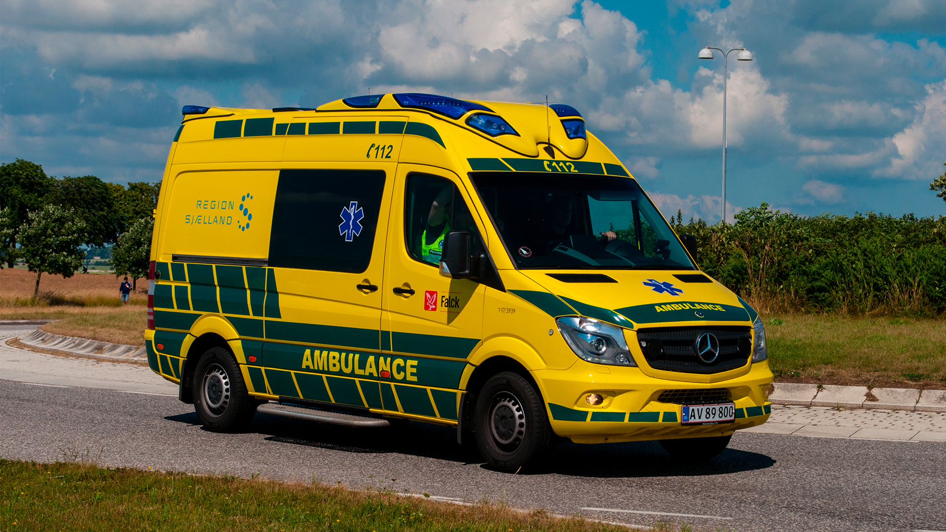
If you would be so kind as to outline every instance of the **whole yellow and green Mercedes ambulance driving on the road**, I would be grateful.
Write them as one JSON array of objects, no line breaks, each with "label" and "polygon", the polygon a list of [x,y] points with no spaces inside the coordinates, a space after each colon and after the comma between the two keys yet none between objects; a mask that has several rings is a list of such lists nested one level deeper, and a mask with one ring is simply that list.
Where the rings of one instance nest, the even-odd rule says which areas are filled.
[{"label": "whole yellow and green Mercedes ambulance driving on the road", "polygon": [[185,106],[146,345],[212,431],[254,413],[688,460],[763,423],[762,321],[569,105],[427,94]]}]

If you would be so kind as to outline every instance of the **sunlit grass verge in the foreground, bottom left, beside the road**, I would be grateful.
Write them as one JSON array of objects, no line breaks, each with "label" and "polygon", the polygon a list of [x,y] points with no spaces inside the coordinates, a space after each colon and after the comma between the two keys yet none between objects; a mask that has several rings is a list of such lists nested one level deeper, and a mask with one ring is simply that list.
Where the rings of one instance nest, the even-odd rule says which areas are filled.
[{"label": "sunlit grass verge in the foreground, bottom left, beside the road", "polygon": [[0,460],[0,522],[22,531],[627,530],[541,510],[451,505],[378,489],[10,460]]}]

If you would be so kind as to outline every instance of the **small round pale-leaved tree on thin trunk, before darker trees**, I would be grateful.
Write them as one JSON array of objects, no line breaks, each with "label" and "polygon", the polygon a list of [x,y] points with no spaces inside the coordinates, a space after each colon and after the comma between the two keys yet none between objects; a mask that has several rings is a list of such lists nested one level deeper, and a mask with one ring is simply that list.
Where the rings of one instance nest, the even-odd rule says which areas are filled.
[{"label": "small round pale-leaved tree on thin trunk, before darker trees", "polygon": [[71,208],[46,205],[29,213],[20,226],[20,254],[30,272],[36,272],[36,289],[40,293],[43,273],[71,277],[82,266],[85,252],[79,246],[87,239],[86,225]]}]

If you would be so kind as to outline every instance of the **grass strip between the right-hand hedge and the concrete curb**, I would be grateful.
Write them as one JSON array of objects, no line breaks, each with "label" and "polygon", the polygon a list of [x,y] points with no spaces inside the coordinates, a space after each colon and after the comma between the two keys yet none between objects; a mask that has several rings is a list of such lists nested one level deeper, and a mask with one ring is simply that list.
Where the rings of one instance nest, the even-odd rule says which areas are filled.
[{"label": "grass strip between the right-hand hedge and the concrete curb", "polygon": [[946,388],[946,320],[766,316],[776,381]]}]

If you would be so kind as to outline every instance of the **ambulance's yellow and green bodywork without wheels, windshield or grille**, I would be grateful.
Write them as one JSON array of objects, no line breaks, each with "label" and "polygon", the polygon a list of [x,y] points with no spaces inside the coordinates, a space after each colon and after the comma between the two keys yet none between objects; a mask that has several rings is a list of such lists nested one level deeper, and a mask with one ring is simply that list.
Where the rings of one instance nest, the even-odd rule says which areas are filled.
[{"label": "ambulance's yellow and green bodywork without wheels, windshield or grille", "polygon": [[[545,105],[477,103],[518,134],[490,137],[467,125],[465,115],[401,107],[392,95],[370,109],[340,100],[315,111],[212,108],[186,115],[155,216],[156,330],[145,335],[152,369],[169,381],[185,380],[201,346],[221,341],[254,397],[455,425],[477,369],[501,357],[528,372],[554,432],[576,442],[731,434],[764,422],[772,381],[767,362],[716,374],[665,371],[651,367],[639,346],[641,324],[750,326],[751,312],[721,284],[687,285],[687,299],[677,301],[639,288],[674,272],[608,270],[617,284],[594,284],[517,270],[469,172],[633,177],[593,134],[569,138]],[[379,204],[324,191],[369,174],[378,180]],[[502,290],[440,275],[435,264],[412,256],[405,213],[408,184],[418,175],[456,186]],[[290,212],[298,210],[292,202],[299,194],[323,202],[312,207],[321,210]],[[359,221],[375,224],[367,258],[350,264],[318,258],[319,246],[307,242],[330,236],[355,246],[363,239],[350,222],[356,207],[368,209]],[[323,225],[307,222],[318,216]],[[613,311],[626,322],[637,367],[590,364],[571,351],[555,318],[587,315],[587,309]],[[728,390],[734,423],[682,426],[680,405],[657,400],[666,390],[707,388]],[[590,393],[602,395],[602,404],[589,405]]]}]

